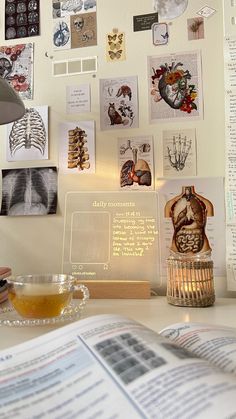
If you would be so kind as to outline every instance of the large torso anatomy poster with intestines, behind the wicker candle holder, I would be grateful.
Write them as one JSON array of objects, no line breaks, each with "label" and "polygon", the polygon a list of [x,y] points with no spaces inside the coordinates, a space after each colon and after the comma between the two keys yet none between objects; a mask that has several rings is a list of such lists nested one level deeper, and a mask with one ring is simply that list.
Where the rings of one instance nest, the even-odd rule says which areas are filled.
[{"label": "large torso anatomy poster with intestines, behind the wicker candle holder", "polygon": [[[215,276],[225,275],[225,208],[223,178],[160,179],[157,181],[162,276],[166,259],[205,251],[209,244]],[[173,202],[172,205],[171,202]],[[168,211],[167,211],[168,209]]]}]

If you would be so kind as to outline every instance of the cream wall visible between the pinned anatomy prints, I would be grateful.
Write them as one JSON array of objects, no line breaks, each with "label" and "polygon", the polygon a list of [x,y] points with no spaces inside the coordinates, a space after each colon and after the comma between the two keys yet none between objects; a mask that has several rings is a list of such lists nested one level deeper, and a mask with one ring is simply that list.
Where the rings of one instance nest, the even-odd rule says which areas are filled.
[{"label": "cream wall visible between the pinned anatomy prints", "polygon": [[[64,196],[70,190],[118,190],[117,137],[130,135],[131,130],[100,131],[99,79],[116,76],[138,76],[140,126],[132,136],[153,135],[156,178],[162,176],[162,131],[174,128],[196,128],[198,176],[224,176],[224,83],[223,83],[223,1],[208,0],[217,10],[205,19],[205,39],[188,41],[187,18],[205,6],[205,0],[189,0],[185,13],[169,21],[170,40],[166,46],[153,46],[151,31],[133,32],[133,15],[152,13],[152,0],[97,0],[98,45],[66,51],[53,51],[51,0],[41,0],[41,36],[21,39],[34,43],[34,99],[26,106],[49,106],[49,160],[42,165],[58,165],[58,123],[75,120],[65,113],[66,86],[89,83],[92,111],[78,119],[94,119],[96,123],[96,174],[76,176],[59,174],[58,212],[52,216],[0,217],[0,265],[10,266],[14,274],[58,272],[61,269]],[[0,2],[0,44],[16,44],[4,40],[4,1]],[[126,61],[107,63],[105,34],[113,28],[126,35]],[[204,119],[199,121],[148,122],[147,56],[172,52],[201,50],[204,94]],[[53,59],[45,56],[53,56]],[[63,58],[98,57],[98,72],[93,75],[53,77],[52,61]],[[37,161],[7,162],[5,158],[5,127],[0,128],[1,168],[34,167]],[[223,293],[225,279],[216,284]]]}]

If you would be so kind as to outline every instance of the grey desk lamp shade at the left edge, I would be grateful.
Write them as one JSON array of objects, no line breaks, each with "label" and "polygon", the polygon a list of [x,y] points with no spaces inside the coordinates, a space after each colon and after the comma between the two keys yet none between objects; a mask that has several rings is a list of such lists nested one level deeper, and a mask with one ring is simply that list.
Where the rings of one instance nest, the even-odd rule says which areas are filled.
[{"label": "grey desk lamp shade at the left edge", "polygon": [[0,77],[0,125],[22,118],[25,106],[18,93]]}]

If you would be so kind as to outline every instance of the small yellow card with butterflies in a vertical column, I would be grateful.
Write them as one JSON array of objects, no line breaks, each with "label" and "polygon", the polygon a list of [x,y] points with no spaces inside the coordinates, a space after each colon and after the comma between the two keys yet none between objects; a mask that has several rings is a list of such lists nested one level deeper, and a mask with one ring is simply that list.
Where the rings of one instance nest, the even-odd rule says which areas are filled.
[{"label": "small yellow card with butterflies in a vertical column", "polygon": [[125,34],[112,32],[106,35],[106,59],[110,62],[125,60]]}]

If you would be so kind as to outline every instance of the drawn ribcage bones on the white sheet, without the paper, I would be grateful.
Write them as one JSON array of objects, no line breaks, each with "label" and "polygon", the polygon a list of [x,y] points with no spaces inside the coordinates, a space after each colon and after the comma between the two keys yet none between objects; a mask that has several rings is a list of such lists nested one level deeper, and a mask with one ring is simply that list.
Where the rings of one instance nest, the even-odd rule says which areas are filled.
[{"label": "drawn ribcage bones on the white sheet, without the paper", "polygon": [[40,113],[34,109],[26,109],[25,115],[13,123],[10,136],[9,147],[13,156],[17,150],[24,147],[38,149],[42,155],[45,152],[46,130]]}]

